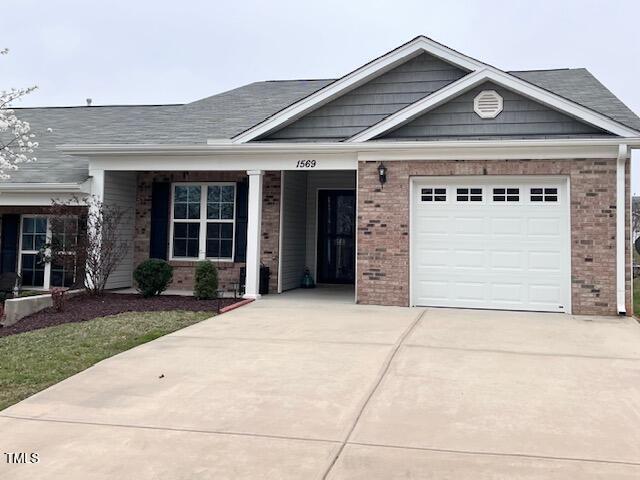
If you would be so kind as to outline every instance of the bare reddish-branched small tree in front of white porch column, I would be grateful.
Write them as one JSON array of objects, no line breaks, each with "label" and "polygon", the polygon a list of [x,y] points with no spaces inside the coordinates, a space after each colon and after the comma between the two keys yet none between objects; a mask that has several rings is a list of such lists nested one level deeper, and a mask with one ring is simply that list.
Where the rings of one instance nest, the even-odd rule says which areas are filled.
[{"label": "bare reddish-branched small tree in front of white porch column", "polygon": [[53,201],[52,238],[43,247],[45,261],[76,270],[76,284],[100,295],[107,280],[129,251],[121,235],[127,210],[95,196]]}]

